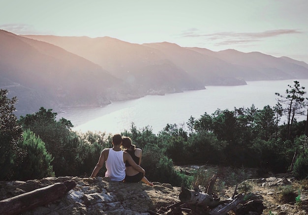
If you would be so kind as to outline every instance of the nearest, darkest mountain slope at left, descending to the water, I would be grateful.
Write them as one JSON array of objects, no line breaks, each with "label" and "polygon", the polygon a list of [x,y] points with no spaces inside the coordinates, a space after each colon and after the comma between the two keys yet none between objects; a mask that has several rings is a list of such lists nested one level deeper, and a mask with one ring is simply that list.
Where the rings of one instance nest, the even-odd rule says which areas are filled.
[{"label": "nearest, darkest mountain slope at left, descending to the water", "polygon": [[99,65],[55,45],[0,30],[0,88],[17,96],[17,115],[40,107],[100,106],[140,97]]}]

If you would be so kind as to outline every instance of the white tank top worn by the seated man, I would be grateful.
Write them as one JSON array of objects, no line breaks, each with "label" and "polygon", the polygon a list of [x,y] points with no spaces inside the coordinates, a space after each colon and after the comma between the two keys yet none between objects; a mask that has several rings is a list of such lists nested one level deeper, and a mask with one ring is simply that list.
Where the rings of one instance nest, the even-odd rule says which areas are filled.
[{"label": "white tank top worn by the seated man", "polygon": [[109,177],[111,181],[120,182],[125,178],[125,163],[123,161],[123,151],[115,151],[109,149],[106,161],[105,177]]}]

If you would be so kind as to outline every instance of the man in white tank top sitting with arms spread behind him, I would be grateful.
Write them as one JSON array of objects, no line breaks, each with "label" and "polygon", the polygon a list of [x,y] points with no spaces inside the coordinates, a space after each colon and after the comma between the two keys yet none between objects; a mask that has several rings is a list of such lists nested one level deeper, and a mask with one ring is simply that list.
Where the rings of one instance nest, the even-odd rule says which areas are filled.
[{"label": "man in white tank top sitting with arms spread behind him", "polygon": [[145,170],[139,166],[131,156],[122,151],[122,136],[121,134],[115,134],[112,137],[113,148],[104,149],[100,153],[100,157],[96,166],[93,169],[91,177],[95,177],[98,171],[103,167],[106,161],[106,173],[105,177],[109,177],[111,181],[121,182],[125,178],[125,162],[127,161],[134,169],[145,175]]}]

